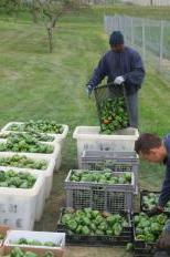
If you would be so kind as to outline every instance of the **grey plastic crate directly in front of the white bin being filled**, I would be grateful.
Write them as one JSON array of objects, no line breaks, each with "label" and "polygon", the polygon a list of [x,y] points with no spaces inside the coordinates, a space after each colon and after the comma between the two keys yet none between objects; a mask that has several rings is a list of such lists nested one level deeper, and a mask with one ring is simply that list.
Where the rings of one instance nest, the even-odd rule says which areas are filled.
[{"label": "grey plastic crate directly in front of the white bin being filled", "polygon": [[83,169],[103,171],[110,168],[113,172],[132,172],[135,176],[135,194],[138,194],[139,157],[136,152],[113,151],[84,151],[82,155]]}]

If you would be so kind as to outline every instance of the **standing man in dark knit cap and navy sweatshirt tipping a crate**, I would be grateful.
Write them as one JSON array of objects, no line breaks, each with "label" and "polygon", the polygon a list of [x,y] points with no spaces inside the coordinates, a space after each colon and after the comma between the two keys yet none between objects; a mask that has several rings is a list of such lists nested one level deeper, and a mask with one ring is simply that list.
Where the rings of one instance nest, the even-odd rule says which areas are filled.
[{"label": "standing man in dark knit cap and navy sweatshirt tipping a crate", "polygon": [[130,126],[138,127],[138,90],[145,78],[145,69],[139,53],[124,44],[120,31],[114,31],[109,38],[110,50],[99,60],[92,79],[86,85],[86,92],[93,90],[107,76],[113,82],[115,92],[123,90],[125,84],[127,107],[129,110]]}]

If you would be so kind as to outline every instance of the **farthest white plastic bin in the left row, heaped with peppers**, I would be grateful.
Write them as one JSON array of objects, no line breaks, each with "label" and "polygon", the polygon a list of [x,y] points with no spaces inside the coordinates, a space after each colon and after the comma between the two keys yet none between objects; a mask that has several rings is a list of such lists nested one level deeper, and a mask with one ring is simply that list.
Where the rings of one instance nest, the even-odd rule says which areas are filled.
[{"label": "farthest white plastic bin in the left row, heaped with peppers", "polygon": [[[6,124],[6,126],[2,127],[1,132],[7,132],[9,131],[10,132],[10,126],[12,124],[23,124],[24,122],[9,122],[8,124]],[[60,143],[61,145],[63,145],[63,142],[68,133],[68,126],[65,125],[65,124],[61,124],[63,126],[63,133],[62,134],[52,134],[52,133],[46,133],[49,135],[55,135],[55,141],[54,143]],[[43,133],[42,133],[43,134]]]}]

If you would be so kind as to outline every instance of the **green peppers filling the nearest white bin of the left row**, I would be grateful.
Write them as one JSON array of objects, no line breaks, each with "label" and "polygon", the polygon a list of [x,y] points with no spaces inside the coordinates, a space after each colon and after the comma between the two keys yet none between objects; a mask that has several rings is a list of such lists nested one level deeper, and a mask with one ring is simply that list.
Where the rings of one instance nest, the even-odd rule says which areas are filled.
[{"label": "green peppers filling the nearest white bin of the left row", "polygon": [[32,188],[36,178],[30,173],[14,171],[0,171],[0,187]]}]

